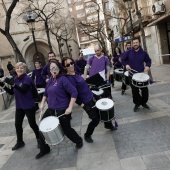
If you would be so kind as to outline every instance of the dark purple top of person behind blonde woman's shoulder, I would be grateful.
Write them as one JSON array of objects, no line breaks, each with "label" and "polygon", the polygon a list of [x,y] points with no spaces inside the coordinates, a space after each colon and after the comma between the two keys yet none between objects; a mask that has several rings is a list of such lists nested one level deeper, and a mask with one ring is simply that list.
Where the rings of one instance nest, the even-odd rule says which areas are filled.
[{"label": "dark purple top of person behind blonde woman's shoulder", "polygon": [[43,86],[46,85],[46,82],[41,75],[42,69],[43,68],[34,69],[33,72],[32,72],[31,78],[35,82],[35,85],[43,85]]}]

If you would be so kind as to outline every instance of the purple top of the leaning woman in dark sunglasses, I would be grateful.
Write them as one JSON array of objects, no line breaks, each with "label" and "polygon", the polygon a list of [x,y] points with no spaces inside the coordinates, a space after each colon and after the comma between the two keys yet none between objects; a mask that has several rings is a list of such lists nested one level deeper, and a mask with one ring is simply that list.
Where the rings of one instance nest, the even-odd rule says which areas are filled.
[{"label": "purple top of the leaning woman in dark sunglasses", "polygon": [[76,87],[78,91],[77,100],[83,104],[88,103],[93,98],[93,93],[90,91],[84,78],[80,75],[68,75],[67,78]]}]

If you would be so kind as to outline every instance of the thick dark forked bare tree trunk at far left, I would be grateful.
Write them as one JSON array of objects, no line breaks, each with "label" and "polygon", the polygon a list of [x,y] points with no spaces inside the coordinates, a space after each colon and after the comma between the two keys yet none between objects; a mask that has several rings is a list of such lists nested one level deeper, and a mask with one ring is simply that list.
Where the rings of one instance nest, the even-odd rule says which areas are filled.
[{"label": "thick dark forked bare tree trunk at far left", "polygon": [[18,49],[13,37],[10,34],[11,15],[12,15],[13,10],[16,7],[18,2],[19,2],[19,0],[13,0],[11,5],[7,9],[4,1],[2,0],[2,5],[4,7],[6,16],[4,16],[5,17],[5,28],[4,29],[0,28],[0,32],[7,38],[8,42],[11,44],[11,46],[12,46],[14,52],[15,52],[16,59],[18,61],[25,62],[25,59],[23,58],[23,56],[22,56],[20,50]]}]

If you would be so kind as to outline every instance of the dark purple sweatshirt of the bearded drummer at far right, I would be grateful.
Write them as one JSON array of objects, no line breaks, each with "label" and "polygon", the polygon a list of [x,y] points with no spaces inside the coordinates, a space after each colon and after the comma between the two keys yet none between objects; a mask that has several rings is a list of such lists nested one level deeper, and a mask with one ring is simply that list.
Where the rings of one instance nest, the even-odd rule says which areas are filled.
[{"label": "dark purple sweatshirt of the bearded drummer at far right", "polygon": [[141,47],[137,52],[132,48],[131,50],[126,51],[122,56],[122,64],[125,67],[126,65],[130,65],[133,70],[138,72],[144,71],[144,63],[146,63],[147,67],[150,67],[151,59],[147,52],[143,51]]}]

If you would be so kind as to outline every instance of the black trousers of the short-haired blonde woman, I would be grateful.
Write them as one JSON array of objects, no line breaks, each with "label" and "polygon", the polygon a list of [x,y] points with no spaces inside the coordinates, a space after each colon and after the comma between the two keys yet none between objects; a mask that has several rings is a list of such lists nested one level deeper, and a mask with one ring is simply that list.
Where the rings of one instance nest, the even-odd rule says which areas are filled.
[{"label": "black trousers of the short-haired blonde woman", "polygon": [[15,112],[15,128],[17,134],[17,141],[23,141],[23,120],[25,115],[28,118],[28,123],[35,133],[37,139],[39,139],[39,128],[35,120],[35,108],[32,109],[16,109]]}]

